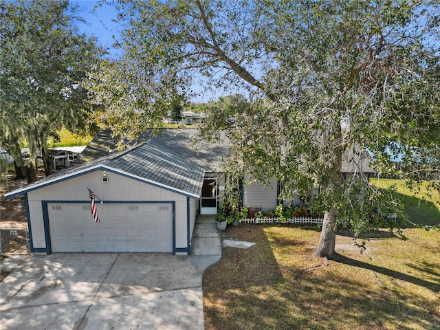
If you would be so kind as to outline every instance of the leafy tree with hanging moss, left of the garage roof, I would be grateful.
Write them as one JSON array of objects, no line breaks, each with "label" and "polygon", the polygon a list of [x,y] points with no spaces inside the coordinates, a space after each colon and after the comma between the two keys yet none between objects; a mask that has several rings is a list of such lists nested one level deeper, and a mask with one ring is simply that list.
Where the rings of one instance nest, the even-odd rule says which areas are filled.
[{"label": "leafy tree with hanging moss, left of the garage roof", "polygon": [[[27,168],[28,181],[36,179],[37,148],[50,173],[46,144],[57,129],[93,128],[80,81],[103,51],[96,40],[78,33],[75,10],[68,1],[0,3],[1,143]],[[30,148],[27,164],[21,157],[23,140]]]}]

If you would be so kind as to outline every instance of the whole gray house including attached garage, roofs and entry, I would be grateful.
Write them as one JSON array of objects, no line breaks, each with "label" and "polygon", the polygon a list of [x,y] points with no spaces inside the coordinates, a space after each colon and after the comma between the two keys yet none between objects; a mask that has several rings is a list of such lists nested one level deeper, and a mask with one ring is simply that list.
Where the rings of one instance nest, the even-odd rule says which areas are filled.
[{"label": "whole gray house including attached garage, roofs and entry", "polygon": [[[75,166],[6,194],[25,197],[31,251],[190,253],[197,214],[221,206],[228,157],[226,142],[196,140],[197,134],[146,132],[118,152],[118,140],[102,131]],[[96,195],[99,223],[87,188]],[[243,206],[273,210],[279,192],[276,180],[245,185]]]}]

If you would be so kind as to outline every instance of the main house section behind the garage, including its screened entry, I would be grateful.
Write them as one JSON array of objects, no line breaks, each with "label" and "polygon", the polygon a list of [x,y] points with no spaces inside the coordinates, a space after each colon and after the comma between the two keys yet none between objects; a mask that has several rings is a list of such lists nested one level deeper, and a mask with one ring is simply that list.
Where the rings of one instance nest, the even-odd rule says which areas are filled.
[{"label": "main house section behind the garage, including its screened entry", "polygon": [[[201,214],[216,214],[221,206],[221,192],[225,187],[223,159],[228,157],[226,137],[221,137],[219,142],[206,142],[199,139],[197,129],[162,129],[159,135],[148,131],[136,141],[127,143],[135,144],[149,140],[154,140],[173,153],[181,155],[190,162],[195,162],[205,170],[205,184],[201,192],[199,212]],[[76,163],[84,164],[98,157],[114,153],[118,142],[117,138],[111,137],[109,129],[100,131],[76,159]],[[245,179],[248,177],[246,176]],[[278,205],[278,195],[279,186],[276,179],[270,183],[270,186],[259,183],[250,184],[243,186],[241,191],[243,206],[262,208],[263,211],[273,210]]]}]

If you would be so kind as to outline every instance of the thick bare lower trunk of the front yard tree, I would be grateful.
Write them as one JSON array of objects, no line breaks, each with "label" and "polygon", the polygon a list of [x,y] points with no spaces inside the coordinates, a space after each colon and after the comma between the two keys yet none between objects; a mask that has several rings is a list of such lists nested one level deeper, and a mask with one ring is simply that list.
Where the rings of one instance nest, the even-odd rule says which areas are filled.
[{"label": "thick bare lower trunk of the front yard tree", "polygon": [[336,214],[338,214],[338,210],[335,207],[332,207],[329,211],[325,211],[321,236],[319,238],[314,256],[333,259],[335,254],[336,229],[338,228]]}]

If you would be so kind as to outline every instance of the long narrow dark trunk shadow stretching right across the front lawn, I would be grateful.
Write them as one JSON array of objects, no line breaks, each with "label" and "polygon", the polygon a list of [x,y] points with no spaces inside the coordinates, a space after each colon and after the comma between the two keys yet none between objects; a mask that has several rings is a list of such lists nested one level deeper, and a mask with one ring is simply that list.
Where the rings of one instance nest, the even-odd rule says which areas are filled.
[{"label": "long narrow dark trunk shadow stretching right across the front lawn", "polygon": [[[432,292],[439,293],[440,285],[437,283],[433,283],[430,281],[422,280],[421,278],[417,278],[408,274],[396,272],[395,270],[389,270],[385,267],[380,267],[376,265],[371,265],[369,263],[364,263],[362,261],[358,261],[355,259],[347,258],[347,256],[342,256],[341,254],[336,254],[333,258],[334,261],[338,263],[344,263],[345,265],[351,265],[355,267],[364,268],[366,270],[372,270],[373,272],[380,273],[386,276],[391,276],[393,278],[397,278],[398,280],[409,282],[415,285],[419,285],[421,287],[426,287],[426,289],[430,289]],[[426,272],[426,269],[423,269],[423,272]]]}]

